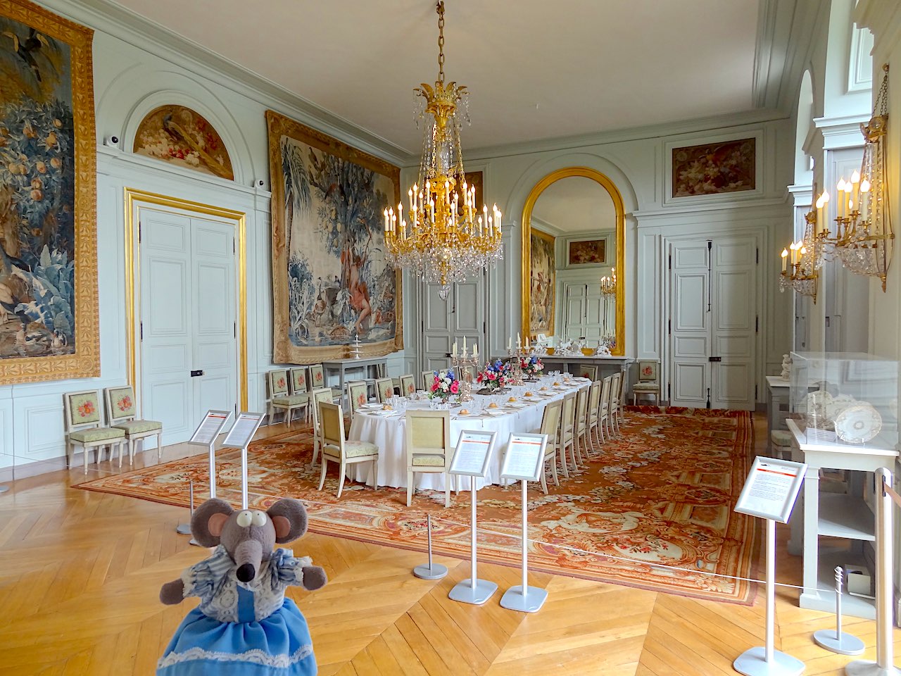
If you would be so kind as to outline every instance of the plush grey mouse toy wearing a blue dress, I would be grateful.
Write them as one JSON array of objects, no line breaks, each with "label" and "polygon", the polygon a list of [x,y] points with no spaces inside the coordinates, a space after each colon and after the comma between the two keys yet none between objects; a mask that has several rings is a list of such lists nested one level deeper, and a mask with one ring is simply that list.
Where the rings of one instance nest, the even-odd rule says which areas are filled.
[{"label": "plush grey mouse toy wearing a blue dress", "polygon": [[211,498],[191,518],[191,534],[215,547],[159,590],[168,605],[189,596],[200,606],[187,614],[157,665],[158,676],[312,676],[313,643],[305,617],[285,598],[288,585],[319,589],[325,571],[308,556],[272,551],[305,534],[306,510],[284,498],[263,512],[235,511]]}]

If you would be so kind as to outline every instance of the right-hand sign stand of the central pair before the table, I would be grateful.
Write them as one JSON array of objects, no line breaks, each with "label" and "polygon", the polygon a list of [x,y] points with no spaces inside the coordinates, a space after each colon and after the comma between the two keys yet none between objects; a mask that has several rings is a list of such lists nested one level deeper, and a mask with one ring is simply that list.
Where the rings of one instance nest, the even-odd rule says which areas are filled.
[{"label": "right-hand sign stand of the central pair before the table", "polygon": [[510,434],[510,443],[501,466],[501,479],[518,480],[523,485],[523,584],[507,589],[501,606],[523,613],[536,613],[548,598],[548,592],[529,587],[529,491],[527,483],[537,481],[542,474],[547,434]]}]

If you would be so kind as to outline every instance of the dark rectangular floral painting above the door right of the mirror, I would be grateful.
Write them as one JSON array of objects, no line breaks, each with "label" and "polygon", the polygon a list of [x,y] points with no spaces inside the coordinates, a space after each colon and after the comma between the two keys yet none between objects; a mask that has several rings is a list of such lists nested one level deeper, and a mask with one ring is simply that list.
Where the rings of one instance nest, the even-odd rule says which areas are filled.
[{"label": "dark rectangular floral painting above the door right of the mirror", "polygon": [[674,148],[672,196],[719,195],[757,187],[756,139]]}]

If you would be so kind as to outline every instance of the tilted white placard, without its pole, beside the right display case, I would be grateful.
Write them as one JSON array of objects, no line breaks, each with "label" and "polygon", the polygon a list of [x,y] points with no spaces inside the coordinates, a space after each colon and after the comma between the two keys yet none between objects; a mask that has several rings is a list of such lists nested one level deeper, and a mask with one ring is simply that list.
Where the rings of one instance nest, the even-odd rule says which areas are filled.
[{"label": "tilted white placard, without its pole, beside the right display case", "polygon": [[807,465],[803,462],[757,456],[735,511],[785,524],[806,471]]}]

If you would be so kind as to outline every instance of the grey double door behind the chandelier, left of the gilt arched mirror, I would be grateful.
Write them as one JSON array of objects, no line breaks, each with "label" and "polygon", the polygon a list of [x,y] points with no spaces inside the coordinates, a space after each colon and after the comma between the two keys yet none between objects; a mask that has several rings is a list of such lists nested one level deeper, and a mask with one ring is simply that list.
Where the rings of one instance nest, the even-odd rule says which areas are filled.
[{"label": "grey double door behind the chandelier, left of the gilt arched mirror", "polygon": [[478,343],[479,359],[488,355],[485,323],[485,274],[451,285],[446,298],[441,298],[441,285],[420,285],[420,363],[423,370],[446,370],[451,366],[451,348],[457,343],[462,352],[463,339],[467,350]]}]

